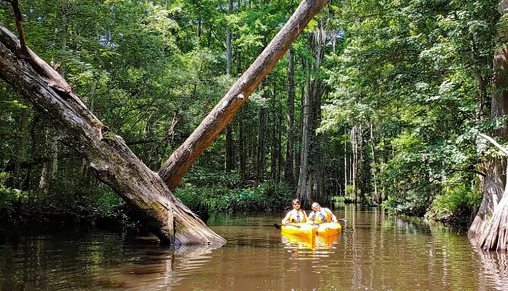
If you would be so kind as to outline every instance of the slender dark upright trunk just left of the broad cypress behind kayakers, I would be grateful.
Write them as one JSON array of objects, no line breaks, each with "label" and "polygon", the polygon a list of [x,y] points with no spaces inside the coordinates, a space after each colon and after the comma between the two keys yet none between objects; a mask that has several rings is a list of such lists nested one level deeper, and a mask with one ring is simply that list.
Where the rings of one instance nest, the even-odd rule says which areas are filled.
[{"label": "slender dark upright trunk just left of the broad cypress behind kayakers", "polygon": [[290,189],[293,189],[293,122],[295,120],[295,66],[292,49],[288,50],[288,104],[286,113],[286,161],[284,167],[284,180]]}]

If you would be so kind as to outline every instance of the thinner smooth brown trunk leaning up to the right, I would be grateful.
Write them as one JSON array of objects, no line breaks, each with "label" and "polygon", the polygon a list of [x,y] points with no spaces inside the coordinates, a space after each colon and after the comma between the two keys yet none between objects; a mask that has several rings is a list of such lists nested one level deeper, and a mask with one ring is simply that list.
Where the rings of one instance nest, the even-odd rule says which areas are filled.
[{"label": "thinner smooth brown trunk leaning up to the right", "polygon": [[190,165],[213,143],[219,133],[233,119],[248,96],[272,71],[277,61],[289,49],[307,23],[319,12],[328,0],[303,0],[300,6],[282,27],[261,55],[243,73],[224,98],[206,116],[187,140],[173,152],[158,171],[169,188],[178,186]]}]

